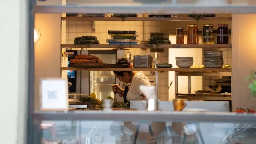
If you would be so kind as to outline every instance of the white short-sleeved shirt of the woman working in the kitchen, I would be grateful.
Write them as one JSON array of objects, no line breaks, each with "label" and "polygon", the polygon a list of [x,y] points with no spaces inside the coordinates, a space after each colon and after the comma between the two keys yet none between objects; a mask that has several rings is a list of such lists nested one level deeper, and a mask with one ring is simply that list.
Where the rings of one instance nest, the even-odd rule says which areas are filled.
[{"label": "white short-sleeved shirt of the woman working in the kitchen", "polygon": [[128,101],[141,100],[143,98],[141,96],[142,92],[139,89],[140,85],[151,86],[148,77],[143,72],[137,72],[133,76],[132,82],[129,84],[129,91],[126,97]]}]

